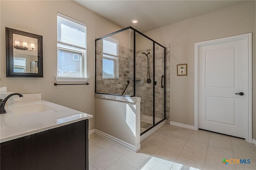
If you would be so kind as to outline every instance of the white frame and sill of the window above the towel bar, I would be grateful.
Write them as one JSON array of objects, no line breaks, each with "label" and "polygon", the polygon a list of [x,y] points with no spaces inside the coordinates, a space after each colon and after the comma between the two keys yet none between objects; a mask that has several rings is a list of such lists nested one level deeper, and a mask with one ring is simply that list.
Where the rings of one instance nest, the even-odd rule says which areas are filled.
[{"label": "white frame and sill of the window above the towel bar", "polygon": [[[84,24],[83,22],[80,22],[80,21],[78,21],[78,20],[75,20],[74,18],[70,18],[70,17],[68,17],[68,16],[66,16],[66,15],[64,15],[64,14],[61,14],[61,13],[57,13],[57,16],[60,16],[60,17],[62,17],[62,18],[65,18],[65,19],[67,19],[67,20],[70,20],[70,21],[72,21],[72,22],[76,22],[76,23],[78,23],[78,24],[81,24],[81,25],[83,25],[83,26],[85,26],[86,27],[86,24]],[[58,32],[58,30],[57,30],[57,32]],[[86,36],[86,38],[87,38],[87,36]],[[86,48],[85,49],[81,49],[80,51],[76,51],[76,50],[74,50],[74,49],[68,49],[68,48],[65,48],[65,47],[60,47],[58,44],[62,44],[62,45],[69,45],[69,44],[67,44],[67,43],[62,43],[62,42],[58,42],[57,43],[57,48],[58,49],[62,49],[62,50],[65,50],[65,51],[75,51],[76,53],[82,53],[82,57],[81,57],[81,62],[82,62],[82,69],[81,69],[81,73],[82,73],[82,77],[62,77],[62,76],[58,76],[58,70],[56,69],[56,81],[65,81],[65,82],[87,82],[88,81],[88,77],[87,77],[87,68],[86,68],[86,61],[87,61],[87,59],[86,59]],[[74,47],[74,45],[69,45],[70,47],[71,46],[73,46]],[[58,59],[58,55],[57,55],[57,59]],[[74,56],[73,56],[73,59],[74,59]],[[79,59],[78,59],[78,61],[79,61]],[[57,62],[57,64],[58,64],[58,62]],[[57,65],[57,68],[58,68],[58,65]]]}]

